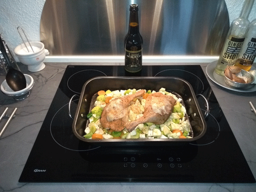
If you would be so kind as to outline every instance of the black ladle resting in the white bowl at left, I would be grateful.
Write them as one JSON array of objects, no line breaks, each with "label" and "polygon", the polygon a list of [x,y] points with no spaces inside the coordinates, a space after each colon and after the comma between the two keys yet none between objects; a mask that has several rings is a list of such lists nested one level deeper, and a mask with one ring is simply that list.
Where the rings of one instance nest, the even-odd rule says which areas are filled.
[{"label": "black ladle resting in the white bowl at left", "polygon": [[[6,83],[13,91],[19,91],[26,88],[26,77],[23,73],[15,70],[11,66],[11,61],[7,55],[6,48],[4,47],[2,38],[0,37],[0,51],[6,60],[6,63],[10,66],[8,73],[6,74]],[[3,64],[3,63],[2,63]]]}]

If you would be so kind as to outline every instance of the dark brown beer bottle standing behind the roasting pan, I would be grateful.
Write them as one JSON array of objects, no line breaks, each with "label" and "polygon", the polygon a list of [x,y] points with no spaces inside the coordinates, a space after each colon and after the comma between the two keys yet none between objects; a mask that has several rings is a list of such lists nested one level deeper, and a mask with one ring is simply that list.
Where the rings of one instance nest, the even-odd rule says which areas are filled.
[{"label": "dark brown beer bottle standing behind the roasting pan", "polygon": [[125,36],[125,70],[130,73],[142,69],[143,39],[139,31],[138,5],[130,5],[129,30]]}]

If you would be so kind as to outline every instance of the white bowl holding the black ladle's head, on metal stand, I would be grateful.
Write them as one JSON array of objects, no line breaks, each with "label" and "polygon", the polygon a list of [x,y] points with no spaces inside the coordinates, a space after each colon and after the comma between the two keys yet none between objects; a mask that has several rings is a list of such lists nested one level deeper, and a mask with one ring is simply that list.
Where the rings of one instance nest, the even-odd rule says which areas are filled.
[{"label": "white bowl holding the black ladle's head, on metal stand", "polygon": [[[6,80],[3,81],[3,83],[1,84],[1,91],[8,95],[8,96],[14,96],[16,100],[21,100],[21,99],[25,99],[23,96],[25,94],[28,94],[29,91],[32,89],[33,85],[34,85],[34,79],[32,78],[32,76],[29,76],[27,74],[24,74],[25,78],[26,78],[26,88],[23,90],[19,90],[19,91],[14,91],[12,90],[9,85],[7,84]],[[18,99],[20,97],[20,99]]]}]

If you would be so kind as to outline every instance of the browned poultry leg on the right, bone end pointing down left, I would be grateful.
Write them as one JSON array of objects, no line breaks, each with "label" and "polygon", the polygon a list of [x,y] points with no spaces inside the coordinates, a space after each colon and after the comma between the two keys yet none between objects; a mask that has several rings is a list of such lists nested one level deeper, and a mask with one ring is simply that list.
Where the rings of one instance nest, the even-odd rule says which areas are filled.
[{"label": "browned poultry leg on the right, bone end pointing down left", "polygon": [[150,94],[145,102],[143,116],[135,121],[128,122],[127,130],[131,132],[137,125],[145,122],[163,124],[171,115],[175,103],[176,100],[172,96],[163,95],[162,93]]}]

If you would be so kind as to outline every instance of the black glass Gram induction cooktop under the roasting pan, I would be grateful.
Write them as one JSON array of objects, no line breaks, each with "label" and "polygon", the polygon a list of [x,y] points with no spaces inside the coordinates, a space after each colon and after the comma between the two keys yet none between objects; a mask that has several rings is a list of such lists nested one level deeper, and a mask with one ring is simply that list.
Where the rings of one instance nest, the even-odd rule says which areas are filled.
[{"label": "black glass Gram induction cooktop under the roasting pan", "polygon": [[[19,182],[256,182],[199,65],[143,66],[139,74],[180,77],[207,99],[207,132],[199,140],[181,146],[104,147],[75,137],[70,98],[93,77],[128,75],[124,66],[67,66]],[[78,100],[71,102],[73,115]],[[198,96],[198,102],[205,113],[205,100]]]}]

